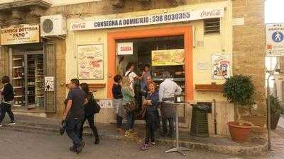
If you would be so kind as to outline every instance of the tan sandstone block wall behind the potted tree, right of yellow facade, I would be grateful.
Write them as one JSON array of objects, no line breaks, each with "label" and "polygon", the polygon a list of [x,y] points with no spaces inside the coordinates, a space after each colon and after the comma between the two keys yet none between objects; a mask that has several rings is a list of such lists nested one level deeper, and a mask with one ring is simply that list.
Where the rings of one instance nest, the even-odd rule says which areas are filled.
[{"label": "tan sandstone block wall behind the potted tree, right of yellow facade", "polygon": [[256,87],[257,107],[251,114],[247,110],[240,110],[241,119],[251,122],[254,126],[265,131],[266,28],[264,25],[264,1],[233,1],[233,18],[244,18],[244,25],[233,26],[233,73],[251,76]]}]

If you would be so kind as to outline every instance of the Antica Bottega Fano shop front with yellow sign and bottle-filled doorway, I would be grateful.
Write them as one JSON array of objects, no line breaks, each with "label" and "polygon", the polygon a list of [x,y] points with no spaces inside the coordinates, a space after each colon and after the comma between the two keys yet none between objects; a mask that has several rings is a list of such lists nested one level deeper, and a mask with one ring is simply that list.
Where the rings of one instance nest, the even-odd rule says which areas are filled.
[{"label": "Antica Bottega Fano shop front with yellow sign and bottle-filled doorway", "polygon": [[0,6],[0,74],[9,76],[13,85],[15,102],[12,109],[16,114],[54,117],[61,110],[57,110],[56,100],[62,101],[60,96],[65,96],[65,84],[61,83],[64,95],[57,95],[60,83],[56,83],[65,83],[65,76],[58,76],[64,75],[65,67],[56,66],[62,62],[60,56],[65,52],[65,42],[40,36],[40,16],[51,4],[20,1]]}]

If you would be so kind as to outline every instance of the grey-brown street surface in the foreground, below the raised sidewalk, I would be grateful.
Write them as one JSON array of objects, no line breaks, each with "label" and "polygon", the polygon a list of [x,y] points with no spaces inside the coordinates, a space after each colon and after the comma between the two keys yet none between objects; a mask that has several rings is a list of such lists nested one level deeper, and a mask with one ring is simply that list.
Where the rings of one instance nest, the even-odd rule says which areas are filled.
[{"label": "grey-brown street surface in the foreground, below the raised sidewalk", "polygon": [[[138,151],[138,143],[133,141],[104,140],[98,146],[92,136],[85,136],[86,146],[79,155],[71,153],[70,139],[66,135],[53,136],[0,129],[1,159],[149,159],[184,158],[178,153],[164,153],[169,146],[151,147],[148,151]],[[194,150],[186,153],[192,159],[271,159],[268,156],[247,157]],[[277,158],[278,159],[278,158]]]}]

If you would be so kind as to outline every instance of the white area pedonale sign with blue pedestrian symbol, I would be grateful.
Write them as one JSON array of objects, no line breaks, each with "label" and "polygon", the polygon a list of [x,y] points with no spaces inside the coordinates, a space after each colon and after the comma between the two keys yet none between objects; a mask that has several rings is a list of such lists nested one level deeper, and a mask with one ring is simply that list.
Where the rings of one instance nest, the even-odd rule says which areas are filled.
[{"label": "white area pedonale sign with blue pedestrian symbol", "polygon": [[284,23],[266,25],[266,56],[284,56]]}]

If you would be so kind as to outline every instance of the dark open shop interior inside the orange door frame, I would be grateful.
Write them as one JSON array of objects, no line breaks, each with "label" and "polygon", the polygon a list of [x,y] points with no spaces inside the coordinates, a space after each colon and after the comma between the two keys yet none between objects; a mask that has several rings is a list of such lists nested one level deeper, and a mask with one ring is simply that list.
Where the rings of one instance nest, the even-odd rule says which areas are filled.
[{"label": "dark open shop interior inside the orange door frame", "polygon": [[[135,64],[134,72],[141,76],[142,70],[145,66],[150,66],[151,77],[153,82],[160,85],[163,82],[163,71],[169,71],[173,81],[178,83],[182,88],[182,99],[185,95],[185,63],[184,63],[184,37],[170,36],[170,37],[148,37],[130,40],[117,40],[116,43],[131,42],[133,44],[133,54],[117,55],[116,71],[121,76],[126,72],[126,65],[129,62]],[[162,55],[162,56],[160,56]],[[146,81],[144,81],[146,83]],[[141,90],[144,84],[142,81],[136,80],[134,82],[134,90],[136,93],[136,101],[138,104],[138,111],[141,110],[141,103],[144,97]],[[180,119],[185,120],[185,108],[180,107]]]}]

